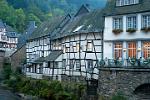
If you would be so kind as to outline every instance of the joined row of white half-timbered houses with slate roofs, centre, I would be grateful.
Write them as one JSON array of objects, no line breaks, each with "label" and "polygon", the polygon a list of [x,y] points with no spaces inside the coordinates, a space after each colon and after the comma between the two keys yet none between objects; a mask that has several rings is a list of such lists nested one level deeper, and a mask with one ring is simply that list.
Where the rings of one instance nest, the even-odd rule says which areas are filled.
[{"label": "joined row of white half-timbered houses with slate roofs, centre", "polygon": [[75,16],[56,20],[56,26],[49,22],[49,26],[40,27],[46,35],[33,36],[27,42],[26,75],[58,80],[62,75],[98,79],[98,61],[103,55],[101,11],[89,12],[82,6]]}]

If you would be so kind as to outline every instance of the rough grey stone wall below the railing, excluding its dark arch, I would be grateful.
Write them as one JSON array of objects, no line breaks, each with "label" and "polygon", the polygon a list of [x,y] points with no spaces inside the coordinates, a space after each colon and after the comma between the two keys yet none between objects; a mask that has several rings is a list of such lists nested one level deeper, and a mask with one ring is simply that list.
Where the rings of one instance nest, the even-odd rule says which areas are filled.
[{"label": "rough grey stone wall below the railing, excluding its dark arch", "polygon": [[132,97],[135,89],[145,83],[150,83],[150,69],[103,68],[99,73],[98,93],[112,96],[122,92]]}]

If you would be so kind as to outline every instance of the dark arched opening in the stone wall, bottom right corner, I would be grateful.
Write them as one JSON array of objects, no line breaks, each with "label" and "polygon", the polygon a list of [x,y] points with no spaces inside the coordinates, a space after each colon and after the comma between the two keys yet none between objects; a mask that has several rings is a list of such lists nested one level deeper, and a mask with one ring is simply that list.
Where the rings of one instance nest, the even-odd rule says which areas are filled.
[{"label": "dark arched opening in the stone wall, bottom right corner", "polygon": [[150,100],[150,83],[145,83],[138,86],[134,90],[137,100]]}]

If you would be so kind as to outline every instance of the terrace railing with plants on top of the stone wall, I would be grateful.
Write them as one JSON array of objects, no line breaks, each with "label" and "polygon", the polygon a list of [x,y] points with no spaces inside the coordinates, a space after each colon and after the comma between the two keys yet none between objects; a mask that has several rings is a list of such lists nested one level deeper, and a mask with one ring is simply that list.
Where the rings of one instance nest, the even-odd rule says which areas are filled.
[{"label": "terrace railing with plants on top of the stone wall", "polygon": [[108,59],[99,62],[99,68],[150,68],[150,59]]}]

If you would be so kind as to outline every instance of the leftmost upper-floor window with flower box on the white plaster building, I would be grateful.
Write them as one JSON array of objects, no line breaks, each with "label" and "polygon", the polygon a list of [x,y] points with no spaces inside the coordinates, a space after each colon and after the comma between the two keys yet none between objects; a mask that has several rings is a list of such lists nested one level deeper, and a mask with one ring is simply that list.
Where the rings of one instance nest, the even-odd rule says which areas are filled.
[{"label": "leftmost upper-floor window with flower box on the white plaster building", "polygon": [[113,29],[122,29],[122,26],[123,26],[122,18],[113,19]]}]

